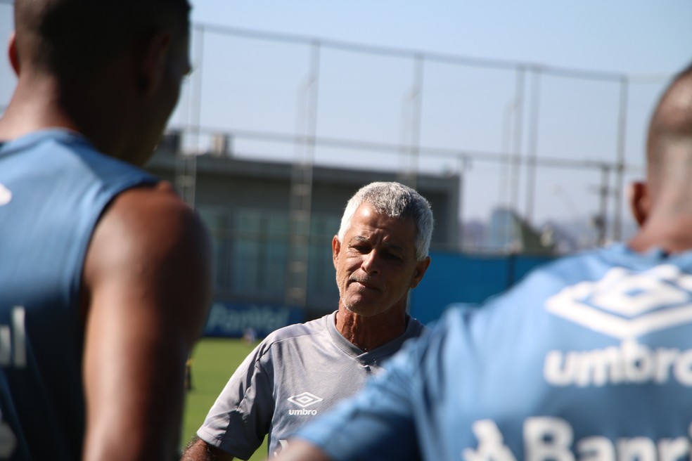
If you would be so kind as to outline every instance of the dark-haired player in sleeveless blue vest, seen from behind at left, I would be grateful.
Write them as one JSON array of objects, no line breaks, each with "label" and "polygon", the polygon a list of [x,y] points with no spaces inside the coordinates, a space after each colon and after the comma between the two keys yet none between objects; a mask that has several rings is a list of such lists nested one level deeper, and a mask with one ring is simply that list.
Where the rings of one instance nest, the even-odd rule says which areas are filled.
[{"label": "dark-haired player in sleeveless blue vest, seen from behind at left", "polygon": [[0,457],[171,460],[210,240],[139,167],[177,103],[186,0],[15,0],[0,119]]}]

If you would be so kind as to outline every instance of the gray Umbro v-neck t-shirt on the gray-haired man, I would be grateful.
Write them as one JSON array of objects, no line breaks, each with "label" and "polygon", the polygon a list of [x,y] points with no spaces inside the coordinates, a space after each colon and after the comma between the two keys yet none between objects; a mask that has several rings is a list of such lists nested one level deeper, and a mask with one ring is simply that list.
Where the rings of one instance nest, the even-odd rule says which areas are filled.
[{"label": "gray Umbro v-neck t-shirt on the gray-haired man", "polygon": [[408,317],[403,335],[364,352],[338,332],[335,316],[267,336],[233,373],[197,436],[247,460],[269,434],[269,453],[278,453],[298,427],[355,394],[406,339],[426,330]]}]

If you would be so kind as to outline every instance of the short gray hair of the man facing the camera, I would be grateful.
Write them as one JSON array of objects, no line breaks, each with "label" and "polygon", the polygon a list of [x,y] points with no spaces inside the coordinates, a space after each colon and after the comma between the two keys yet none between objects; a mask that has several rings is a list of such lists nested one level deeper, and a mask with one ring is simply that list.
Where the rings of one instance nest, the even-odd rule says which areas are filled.
[{"label": "short gray hair of the man facing the camera", "polygon": [[370,183],[350,198],[341,218],[338,238],[343,242],[351,227],[351,219],[361,204],[369,204],[376,212],[392,218],[413,218],[416,221],[416,260],[428,257],[432,238],[432,209],[421,194],[400,183]]}]

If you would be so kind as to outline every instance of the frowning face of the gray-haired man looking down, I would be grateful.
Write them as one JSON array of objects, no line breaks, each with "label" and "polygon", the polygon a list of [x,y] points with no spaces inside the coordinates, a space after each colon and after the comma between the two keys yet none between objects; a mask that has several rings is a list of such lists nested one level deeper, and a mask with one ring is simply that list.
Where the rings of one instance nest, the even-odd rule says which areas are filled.
[{"label": "frowning face of the gray-haired man looking down", "polygon": [[375,212],[361,204],[343,242],[334,237],[332,257],[340,304],[361,316],[395,307],[423,278],[430,259],[416,261],[416,223]]}]

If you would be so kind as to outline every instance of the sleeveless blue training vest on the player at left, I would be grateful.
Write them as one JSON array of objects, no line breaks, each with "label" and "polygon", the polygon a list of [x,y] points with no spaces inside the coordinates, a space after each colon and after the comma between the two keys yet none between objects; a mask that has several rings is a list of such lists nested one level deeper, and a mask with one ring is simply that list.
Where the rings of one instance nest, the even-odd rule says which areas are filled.
[{"label": "sleeveless blue training vest on the player at left", "polygon": [[155,182],[70,131],[0,143],[0,459],[81,457],[84,257],[113,197]]}]

